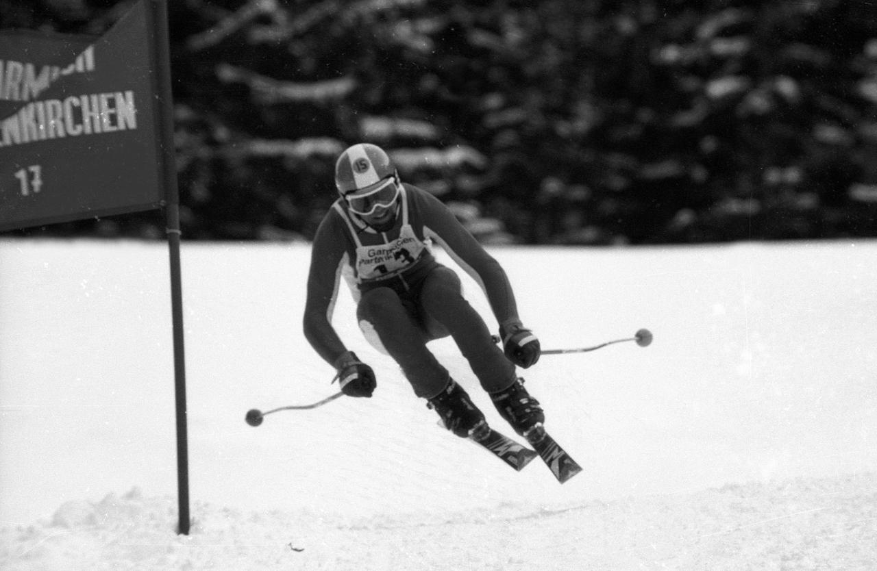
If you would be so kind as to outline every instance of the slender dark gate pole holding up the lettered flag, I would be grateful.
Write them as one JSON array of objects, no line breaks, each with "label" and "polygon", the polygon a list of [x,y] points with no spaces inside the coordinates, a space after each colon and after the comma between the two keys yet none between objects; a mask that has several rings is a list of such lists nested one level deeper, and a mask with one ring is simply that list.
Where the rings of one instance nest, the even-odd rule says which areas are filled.
[{"label": "slender dark gate pole holding up the lettered flag", "polygon": [[155,66],[161,124],[160,154],[164,164],[165,216],[170,253],[171,314],[174,328],[174,387],[176,402],[176,476],[180,525],[189,535],[189,435],[186,410],[186,358],[182,325],[182,277],[180,264],[180,196],[176,181],[174,145],[174,96],[171,90],[168,0],[150,0],[155,30]]}]

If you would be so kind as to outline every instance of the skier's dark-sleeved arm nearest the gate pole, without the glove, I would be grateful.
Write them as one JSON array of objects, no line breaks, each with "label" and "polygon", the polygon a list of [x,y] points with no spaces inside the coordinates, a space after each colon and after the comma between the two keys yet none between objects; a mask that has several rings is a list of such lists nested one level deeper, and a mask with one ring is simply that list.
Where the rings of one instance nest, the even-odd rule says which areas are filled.
[{"label": "skier's dark-sleeved arm nearest the gate pole, without the glove", "polygon": [[347,351],[332,327],[341,271],[347,263],[344,240],[339,225],[332,222],[332,214],[327,215],[314,236],[304,305],[304,336],[317,354],[333,367]]}]

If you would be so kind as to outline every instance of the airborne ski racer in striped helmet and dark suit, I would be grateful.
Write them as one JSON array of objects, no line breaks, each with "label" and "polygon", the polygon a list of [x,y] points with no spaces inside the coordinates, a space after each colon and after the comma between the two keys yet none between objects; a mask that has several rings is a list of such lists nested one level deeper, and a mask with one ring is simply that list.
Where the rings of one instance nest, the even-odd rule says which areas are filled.
[{"label": "airborne ski racer in striped helmet and dark suit", "polygon": [[[339,199],[314,237],[303,327],[311,346],[338,371],[341,391],[371,397],[376,386],[374,370],[346,349],[332,328],[343,276],[357,301],[357,321],[367,341],[396,360],[415,394],[427,400],[453,434],[479,440],[489,427],[467,391],[426,347],[447,335],[517,434],[526,437],[541,427],[545,414],[516,373],[516,365],[536,363],[541,349],[518,318],[500,264],[444,204],[403,183],[387,153],[376,145],[353,145],[342,152],[335,185]],[[433,242],[481,285],[499,324],[503,349],[464,299],[457,274],[433,257]]]}]

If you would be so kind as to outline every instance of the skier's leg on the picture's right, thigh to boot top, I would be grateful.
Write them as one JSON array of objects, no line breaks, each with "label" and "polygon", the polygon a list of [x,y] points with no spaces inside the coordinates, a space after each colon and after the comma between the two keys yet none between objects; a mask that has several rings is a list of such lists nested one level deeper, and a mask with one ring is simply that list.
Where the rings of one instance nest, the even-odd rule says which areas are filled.
[{"label": "skier's leg on the picture's right, thigh to boot top", "polygon": [[515,365],[491,340],[481,315],[463,297],[460,278],[453,270],[440,266],[431,271],[420,291],[420,304],[450,332],[485,391],[502,391],[515,382]]}]

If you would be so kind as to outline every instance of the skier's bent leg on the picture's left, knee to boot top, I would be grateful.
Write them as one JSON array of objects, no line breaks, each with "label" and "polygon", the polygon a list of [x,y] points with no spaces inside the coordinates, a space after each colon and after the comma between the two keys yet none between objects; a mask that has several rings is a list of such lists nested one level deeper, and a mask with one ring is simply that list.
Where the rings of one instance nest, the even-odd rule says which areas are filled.
[{"label": "skier's bent leg on the picture's left, knee to boot top", "polygon": [[399,363],[418,397],[434,397],[446,387],[447,370],[426,348],[422,329],[396,292],[376,287],[363,293],[356,316],[367,340]]}]

